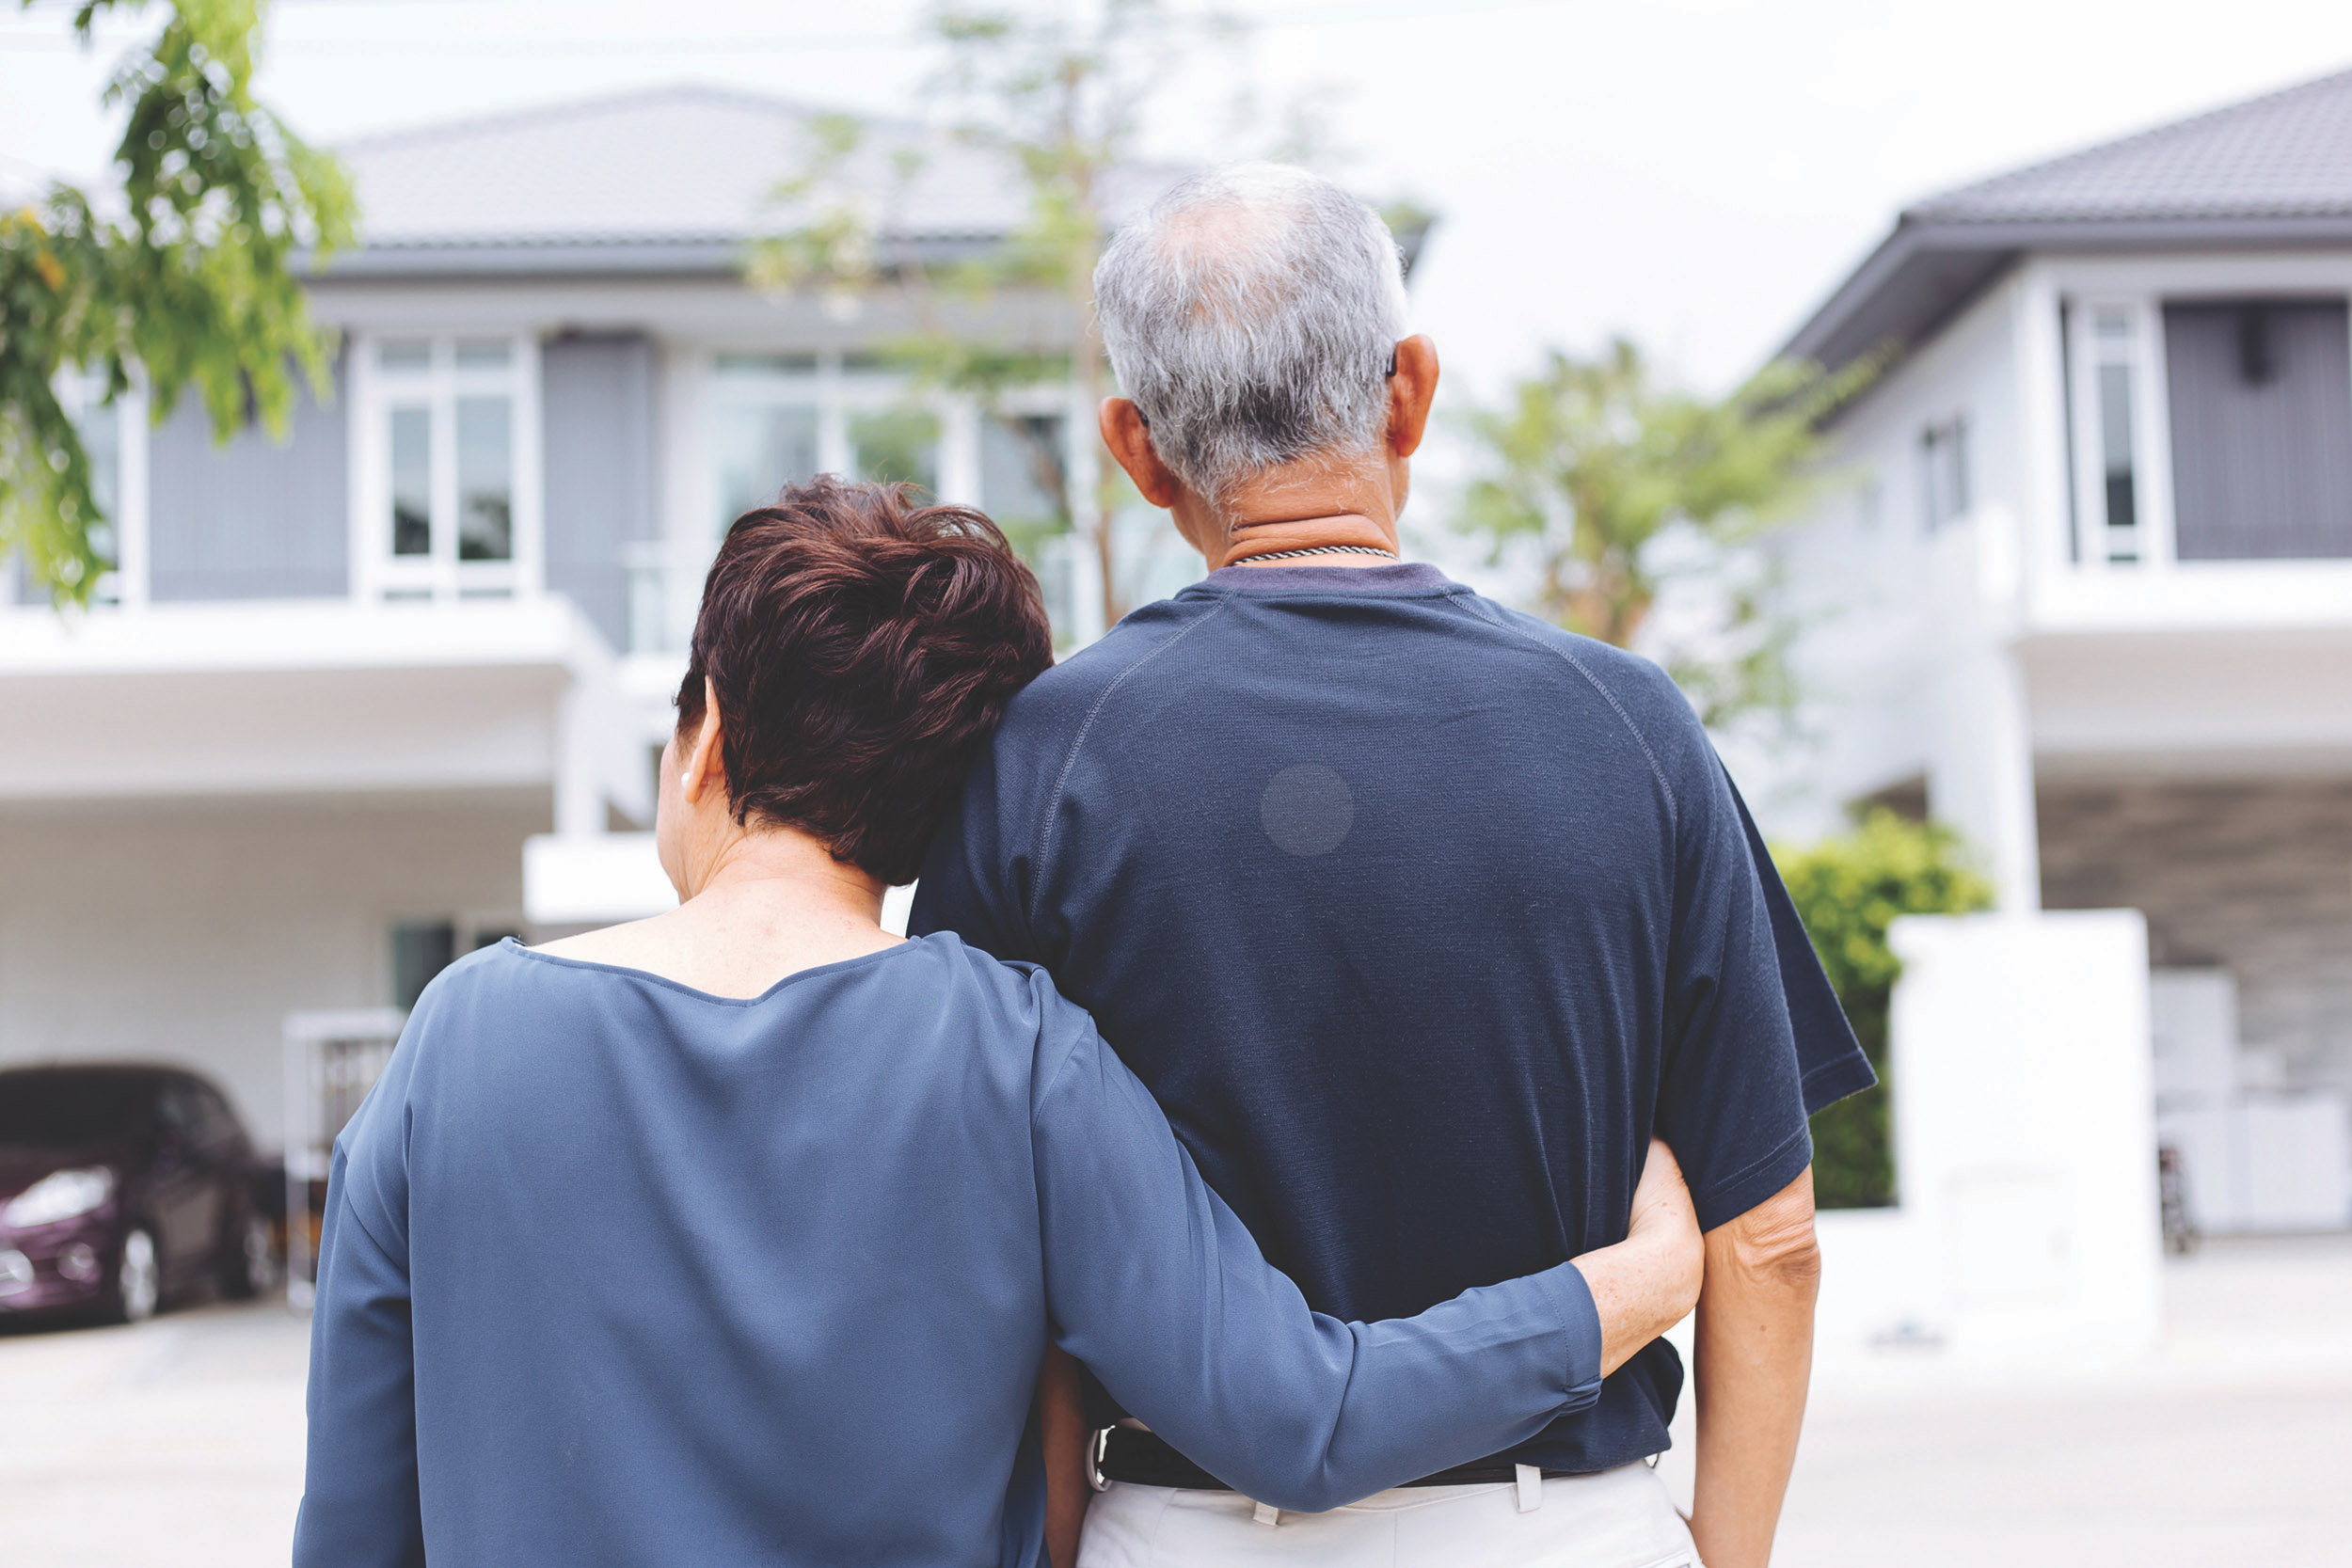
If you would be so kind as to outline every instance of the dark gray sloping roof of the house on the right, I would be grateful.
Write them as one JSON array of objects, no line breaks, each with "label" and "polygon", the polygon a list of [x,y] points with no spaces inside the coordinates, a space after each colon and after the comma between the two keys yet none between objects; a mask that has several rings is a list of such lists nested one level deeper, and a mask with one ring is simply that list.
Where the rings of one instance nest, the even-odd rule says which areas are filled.
[{"label": "dark gray sloping roof of the house on the right", "polygon": [[2025,252],[2352,242],[2352,71],[1917,202],[1783,353],[1910,348]]}]

